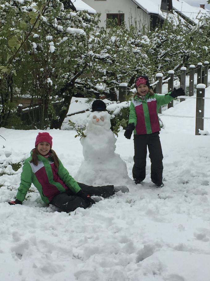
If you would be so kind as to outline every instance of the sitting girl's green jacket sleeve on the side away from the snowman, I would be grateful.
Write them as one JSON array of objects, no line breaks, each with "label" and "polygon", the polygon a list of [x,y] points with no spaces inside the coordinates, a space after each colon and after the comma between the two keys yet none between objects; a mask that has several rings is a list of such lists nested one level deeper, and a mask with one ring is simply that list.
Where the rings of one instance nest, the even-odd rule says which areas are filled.
[{"label": "sitting girl's green jacket sleeve on the side away from the snowman", "polygon": [[18,193],[16,199],[23,202],[26,197],[26,194],[31,187],[32,183],[32,170],[29,163],[23,165],[23,171],[20,176],[20,186],[18,188]]}]

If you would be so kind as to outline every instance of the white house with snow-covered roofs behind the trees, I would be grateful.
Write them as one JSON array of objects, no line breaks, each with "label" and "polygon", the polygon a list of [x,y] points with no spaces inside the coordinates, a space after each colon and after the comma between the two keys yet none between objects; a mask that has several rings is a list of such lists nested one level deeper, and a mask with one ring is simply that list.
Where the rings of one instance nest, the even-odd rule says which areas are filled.
[{"label": "white house with snow-covered roofs behind the trees", "polygon": [[[78,1],[78,0],[76,0]],[[80,0],[81,1],[81,0]],[[167,18],[176,24],[177,18],[197,24],[198,18],[210,11],[201,7],[193,7],[183,0],[82,0],[97,12],[101,13],[101,26],[107,26],[107,20],[115,20],[116,24],[125,23],[129,27],[134,20],[149,29]]]}]

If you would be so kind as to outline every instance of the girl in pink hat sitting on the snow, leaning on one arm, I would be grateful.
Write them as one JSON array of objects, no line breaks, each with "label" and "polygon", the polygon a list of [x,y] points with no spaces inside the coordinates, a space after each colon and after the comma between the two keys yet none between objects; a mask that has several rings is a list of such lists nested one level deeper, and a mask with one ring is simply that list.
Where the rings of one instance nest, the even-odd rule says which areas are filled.
[{"label": "girl in pink hat sitting on the snow, leaning on one arm", "polygon": [[22,204],[31,183],[38,189],[45,203],[50,203],[67,213],[78,207],[85,209],[94,204],[97,200],[94,201],[94,198],[90,197],[92,195],[105,198],[120,190],[128,192],[128,188],[124,186],[93,187],[76,182],[52,150],[52,137],[47,132],[37,135],[31,157],[27,158],[23,165],[16,200],[9,204]]}]

